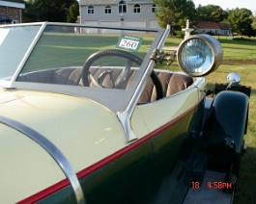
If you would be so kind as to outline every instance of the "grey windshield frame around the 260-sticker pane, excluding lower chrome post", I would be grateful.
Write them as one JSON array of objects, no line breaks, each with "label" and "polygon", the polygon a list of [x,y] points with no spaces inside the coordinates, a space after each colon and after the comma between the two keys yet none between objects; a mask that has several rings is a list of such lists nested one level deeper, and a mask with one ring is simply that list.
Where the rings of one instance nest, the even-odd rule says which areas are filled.
[{"label": "grey windshield frame around the 260-sticker pane, excluding lower chrome post", "polygon": [[[50,22],[40,22],[40,23],[26,23],[26,24],[16,24],[11,25],[9,27],[17,27],[17,26],[27,26],[27,25],[40,25],[41,28],[34,40],[32,41],[29,49],[27,50],[24,58],[16,68],[14,72],[14,76],[11,81],[7,82],[7,84],[4,86],[6,89],[29,89],[29,90],[41,90],[41,91],[48,91],[48,92],[57,92],[57,93],[63,93],[68,95],[74,95],[78,97],[85,97],[91,100],[94,100],[101,105],[107,107],[109,110],[111,110],[114,113],[117,112],[124,112],[127,110],[128,104],[133,97],[133,94],[135,94],[135,89],[138,87],[138,84],[143,80],[142,78],[144,72],[150,68],[153,69],[153,65],[155,64],[155,61],[153,61],[154,64],[150,64],[151,56],[154,53],[154,50],[159,47],[159,43],[163,38],[164,30],[163,29],[141,29],[141,28],[133,28],[133,27],[106,27],[106,26],[87,26],[83,24],[73,24],[73,23],[50,23]],[[143,63],[141,64],[136,77],[134,77],[133,83],[130,87],[130,89],[127,89],[126,91],[122,89],[94,89],[94,88],[86,88],[86,87],[75,87],[69,86],[69,85],[51,85],[51,84],[41,84],[41,83],[27,83],[27,82],[18,82],[17,78],[19,74],[21,73],[22,68],[24,67],[24,64],[29,59],[29,56],[31,55],[32,51],[34,50],[35,46],[37,46],[37,42],[40,40],[40,38],[43,35],[43,31],[46,28],[46,26],[71,26],[71,27],[82,27],[82,28],[94,28],[94,29],[116,29],[116,30],[124,30],[124,31],[138,31],[138,32],[155,32],[156,37],[153,40],[151,47],[149,48],[148,53],[146,54]],[[149,77],[149,76],[146,76]],[[144,84],[146,84],[147,79],[144,79]],[[33,84],[33,85],[32,85]],[[2,85],[2,84],[1,84]],[[86,90],[85,90],[86,89]],[[110,97],[111,96],[111,97]],[[111,100],[110,98],[119,98],[118,101]]]}]

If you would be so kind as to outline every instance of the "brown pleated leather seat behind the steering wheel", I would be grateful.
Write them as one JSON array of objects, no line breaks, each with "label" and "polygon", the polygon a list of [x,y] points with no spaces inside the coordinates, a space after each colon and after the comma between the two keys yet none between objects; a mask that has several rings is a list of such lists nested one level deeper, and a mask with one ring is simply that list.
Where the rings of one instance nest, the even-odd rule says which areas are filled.
[{"label": "brown pleated leather seat behind the steering wheel", "polygon": [[[107,69],[102,68],[92,68],[90,70],[93,77],[97,80],[100,74]],[[122,69],[113,69],[113,81],[116,82],[118,76],[121,74]],[[128,83],[123,89],[128,89],[134,78],[136,70],[130,70],[128,75]],[[157,73],[157,72],[156,72]],[[185,74],[179,73],[168,73],[168,72],[158,72],[158,78],[162,85],[163,97],[177,93],[183,89],[188,88],[192,83],[193,79]],[[74,85],[83,86],[82,83],[82,69],[81,68],[64,68],[47,70],[42,72],[34,72],[18,78],[18,81],[29,81],[29,82],[40,82],[40,83],[51,83],[51,84],[62,84],[62,85]],[[112,81],[109,75],[102,81],[104,87],[111,87]],[[90,84],[92,85],[92,82]],[[146,84],[144,91],[142,92],[138,103],[149,103],[156,101],[156,88],[152,79],[150,78]]]}]

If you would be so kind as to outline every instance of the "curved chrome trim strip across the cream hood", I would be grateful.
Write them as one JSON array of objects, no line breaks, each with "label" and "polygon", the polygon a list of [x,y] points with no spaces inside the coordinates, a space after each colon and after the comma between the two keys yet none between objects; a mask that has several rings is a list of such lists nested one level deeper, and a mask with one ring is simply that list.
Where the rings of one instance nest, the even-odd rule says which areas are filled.
[{"label": "curved chrome trim strip across the cream hood", "polygon": [[28,138],[34,140],[36,143],[42,146],[43,149],[55,160],[58,166],[61,167],[66,177],[70,180],[71,187],[74,192],[77,203],[85,203],[83,191],[80,186],[79,180],[75,174],[75,171],[71,167],[71,164],[69,163],[68,159],[60,151],[60,149],[57,146],[55,146],[55,144],[53,144],[50,140],[47,140],[39,132],[9,117],[0,115],[0,123],[7,125],[8,127],[27,136]]}]

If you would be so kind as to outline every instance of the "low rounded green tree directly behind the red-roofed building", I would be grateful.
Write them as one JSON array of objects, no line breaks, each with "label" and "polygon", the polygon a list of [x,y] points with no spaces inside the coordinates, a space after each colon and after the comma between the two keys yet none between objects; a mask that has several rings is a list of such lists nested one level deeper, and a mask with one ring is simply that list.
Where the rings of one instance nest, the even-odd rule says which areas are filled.
[{"label": "low rounded green tree directly behind the red-roofed building", "polygon": [[199,21],[213,21],[222,22],[227,18],[228,12],[222,10],[221,7],[215,5],[201,6],[196,9],[197,22]]}]

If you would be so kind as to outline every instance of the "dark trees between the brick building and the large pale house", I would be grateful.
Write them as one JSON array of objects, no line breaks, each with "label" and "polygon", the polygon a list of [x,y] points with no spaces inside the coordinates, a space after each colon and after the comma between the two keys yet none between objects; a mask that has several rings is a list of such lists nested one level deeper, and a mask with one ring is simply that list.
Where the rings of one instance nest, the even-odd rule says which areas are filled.
[{"label": "dark trees between the brick building and the large pale house", "polygon": [[24,18],[26,21],[73,21],[71,15],[79,13],[75,4],[78,4],[76,0],[28,0]]}]

